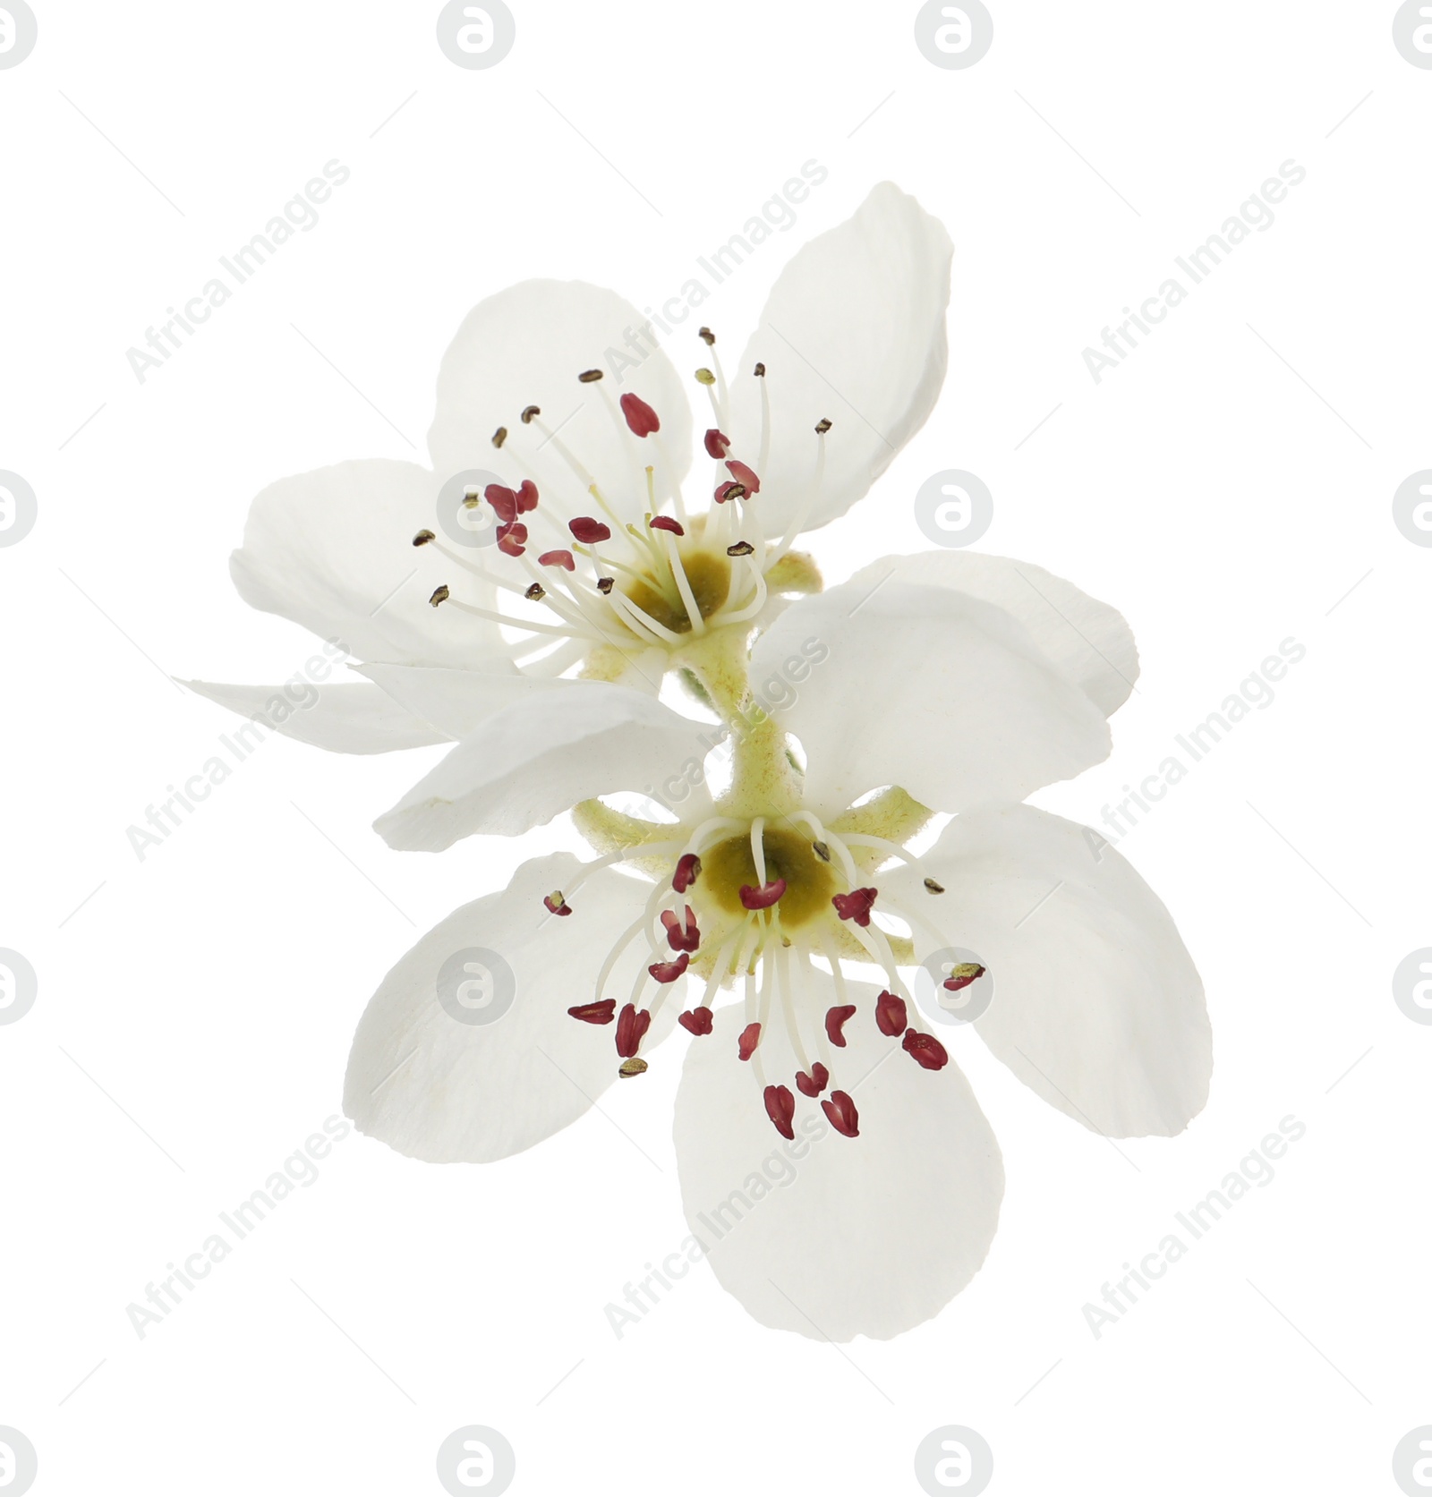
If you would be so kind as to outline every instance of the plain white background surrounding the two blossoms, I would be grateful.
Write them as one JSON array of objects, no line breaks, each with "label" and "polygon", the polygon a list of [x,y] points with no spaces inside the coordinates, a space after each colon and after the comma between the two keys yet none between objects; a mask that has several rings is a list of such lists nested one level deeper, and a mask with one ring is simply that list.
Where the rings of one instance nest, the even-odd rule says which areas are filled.
[{"label": "plain white background surrounding the two blossoms", "polygon": [[[1395,1443],[1432,1422],[1432,1030],[1390,996],[1432,943],[1432,551],[1390,509],[1432,466],[1432,72],[1383,0],[990,3],[968,70],[926,61],[914,4],[768,0],[514,0],[511,55],[463,70],[431,3],[34,0],[39,45],[0,72],[0,467],[39,496],[0,549],[0,946],[40,981],[0,1027],[0,1424],[39,1449],[37,1493],[436,1493],[473,1422],[535,1494],[915,1493],[944,1424],[990,1442],[1001,1494],[1396,1491]],[[334,157],[352,178],[318,228],[138,383],[126,349]],[[701,1268],[619,1340],[605,1304],[686,1235],[662,1052],[500,1165],[346,1141],[141,1341],[126,1305],[339,1111],[377,978],[572,843],[391,852],[368,823],[437,750],[274,738],[135,856],[126,828],[232,728],[166,675],[282,680],[312,653],[229,585],[250,497],[421,460],[473,302],[539,274],[652,305],[810,159],[828,181],[703,316],[738,349],[785,259],[882,178],[945,222],[944,395],[815,551],[839,579],[923,548],[915,490],[969,469],[981,549],[1123,611],[1143,677],[1113,757],[1040,804],[1096,822],[1306,645],[1122,846],[1207,984],[1207,1109],[1116,1150],[962,1031],[1008,1193],[944,1314],[836,1349]],[[1308,175],[1276,223],[1095,385],[1083,347],[1288,159]],[[1095,1340],[1084,1302],[1287,1114],[1306,1136],[1272,1184]]]}]

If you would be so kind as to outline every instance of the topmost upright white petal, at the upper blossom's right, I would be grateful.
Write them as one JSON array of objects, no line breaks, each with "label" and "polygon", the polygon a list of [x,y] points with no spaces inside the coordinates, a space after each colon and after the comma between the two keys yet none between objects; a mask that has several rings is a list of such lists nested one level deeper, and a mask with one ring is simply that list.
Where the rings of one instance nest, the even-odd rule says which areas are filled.
[{"label": "topmost upright white petal, at the upper blossom's right", "polygon": [[780,272],[732,371],[728,433],[732,457],[755,466],[761,391],[750,371],[764,362],[771,445],[752,507],[767,534],[785,531],[809,491],[818,421],[833,427],[803,530],[843,515],[924,425],[945,379],[953,254],[939,220],[881,183]]}]

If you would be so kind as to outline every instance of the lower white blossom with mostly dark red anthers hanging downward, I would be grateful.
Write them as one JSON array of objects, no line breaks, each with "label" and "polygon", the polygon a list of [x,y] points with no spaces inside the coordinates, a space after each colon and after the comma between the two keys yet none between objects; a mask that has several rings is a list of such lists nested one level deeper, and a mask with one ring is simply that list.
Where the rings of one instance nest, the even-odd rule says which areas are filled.
[{"label": "lower white blossom with mostly dark red anthers hanging downward", "polygon": [[[578,805],[602,858],[524,864],[398,963],[359,1022],[345,1108],[404,1154],[499,1159],[646,1070],[680,1016],[695,1037],[677,1162],[717,1277],[765,1325],[891,1337],[980,1268],[1004,1189],[989,1124],[918,1028],[902,967],[980,952],[996,981],[980,1034],[1110,1136],[1185,1127],[1207,1094],[1210,1033],[1192,961],[1143,880],[1095,834],[1016,804],[1107,753],[1105,714],[1137,674],[1113,609],[995,557],[887,558],[791,605],[756,641],[750,680],[810,638],[827,654],[779,720],[704,678],[737,728],[715,802],[698,786],[677,826]],[[544,710],[556,732],[559,708]],[[677,762],[683,746],[668,747]],[[601,735],[568,750],[611,786],[622,751]],[[545,762],[496,775],[469,792],[479,829],[509,799],[551,814],[569,792]],[[912,859],[903,844],[930,808],[959,814]],[[394,814],[389,835],[410,844],[449,825],[431,799]],[[464,949],[512,972],[512,1007],[491,1025],[436,1001]],[[738,1001],[719,1003],[723,985]],[[771,1186],[762,1162],[780,1136],[803,1153],[794,1181]]]}]

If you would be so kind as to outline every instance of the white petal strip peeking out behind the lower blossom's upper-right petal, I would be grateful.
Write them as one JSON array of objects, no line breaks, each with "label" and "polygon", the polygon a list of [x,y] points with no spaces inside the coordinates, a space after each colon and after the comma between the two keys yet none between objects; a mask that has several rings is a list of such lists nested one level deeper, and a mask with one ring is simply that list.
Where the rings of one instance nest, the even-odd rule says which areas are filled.
[{"label": "white petal strip peeking out behind the lower blossom's upper-right petal", "polygon": [[1013,614],[1046,659],[1105,717],[1134,690],[1138,650],[1123,615],[1044,567],[978,551],[920,551],[872,561],[851,581],[873,587],[887,573],[894,588],[912,582],[948,587]]}]

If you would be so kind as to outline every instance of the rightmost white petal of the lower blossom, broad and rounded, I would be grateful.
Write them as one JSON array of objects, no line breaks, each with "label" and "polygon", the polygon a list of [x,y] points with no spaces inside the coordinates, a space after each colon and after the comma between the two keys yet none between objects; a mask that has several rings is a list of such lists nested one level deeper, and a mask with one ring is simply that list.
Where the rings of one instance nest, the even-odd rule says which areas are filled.
[{"label": "rightmost white petal of the lower blossom, broad and rounded", "polygon": [[882,888],[941,922],[936,946],[980,954],[995,996],[975,1021],[1046,1102],[1096,1133],[1180,1133],[1209,1094],[1203,984],[1158,895],[1096,832],[1029,805],[959,816],[923,858],[945,886],[882,873]]}]

